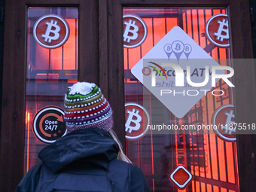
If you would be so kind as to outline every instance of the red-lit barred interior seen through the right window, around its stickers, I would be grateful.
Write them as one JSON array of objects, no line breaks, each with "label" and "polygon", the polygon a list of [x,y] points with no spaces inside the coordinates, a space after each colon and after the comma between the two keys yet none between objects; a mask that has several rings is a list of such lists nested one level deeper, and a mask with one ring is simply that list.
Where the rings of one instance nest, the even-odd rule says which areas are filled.
[{"label": "red-lit barred interior seen through the right window, around its stickers", "polygon": [[[226,13],[226,9],[124,8],[123,14],[135,14],[141,17],[148,27],[148,35],[143,44],[135,48],[123,48],[125,74],[130,74],[130,69],[174,26],[180,26],[221,66],[229,65],[225,60],[230,58],[229,48],[214,47],[212,50],[207,48],[211,43],[206,38],[206,22],[212,15],[220,13]],[[124,82],[126,102],[145,105],[140,82],[133,78],[133,75],[126,75]],[[232,91],[227,84],[221,82],[218,87],[227,90],[224,96],[213,98],[207,94],[185,117],[178,119],[169,112],[169,119],[179,125],[184,122],[188,124],[212,123],[212,115],[216,108],[233,103]],[[148,95],[147,109],[152,114],[153,97],[150,93]],[[159,139],[157,139],[158,137]],[[161,139],[163,140],[164,136],[152,134],[135,141],[126,139],[127,155],[134,164],[142,168],[152,191],[239,191],[236,142],[226,142],[214,133],[185,134],[176,131],[169,138],[171,145],[163,149],[160,145]],[[188,167],[193,175],[191,183],[182,190],[165,180],[178,164]]]}]

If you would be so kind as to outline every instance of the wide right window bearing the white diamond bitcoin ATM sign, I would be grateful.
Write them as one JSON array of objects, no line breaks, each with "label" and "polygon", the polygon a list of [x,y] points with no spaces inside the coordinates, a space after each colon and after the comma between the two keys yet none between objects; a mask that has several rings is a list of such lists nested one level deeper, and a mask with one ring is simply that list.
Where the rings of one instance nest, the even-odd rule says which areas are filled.
[{"label": "wide right window bearing the white diamond bitcoin ATM sign", "polygon": [[[145,59],[174,59],[177,66],[189,59],[214,59],[214,65],[230,66],[229,41],[226,8],[123,8],[126,152],[142,168],[151,191],[239,191],[233,131],[180,129],[234,123],[232,87],[220,80],[197,101],[166,103],[143,86],[153,72],[160,79],[175,77],[157,62],[143,66]],[[205,75],[206,69],[198,70],[190,74]],[[173,93],[175,83],[156,86]],[[157,132],[145,130],[148,125],[178,128]]]}]

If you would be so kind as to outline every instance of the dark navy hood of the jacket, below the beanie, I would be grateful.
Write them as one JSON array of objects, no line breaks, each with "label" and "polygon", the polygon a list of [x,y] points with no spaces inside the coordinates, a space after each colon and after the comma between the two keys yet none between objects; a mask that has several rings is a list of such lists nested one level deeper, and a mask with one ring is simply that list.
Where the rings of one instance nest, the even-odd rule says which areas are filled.
[{"label": "dark navy hood of the jacket, below the beanie", "polygon": [[57,139],[43,148],[38,157],[53,172],[58,172],[79,160],[106,168],[109,161],[117,158],[118,151],[117,142],[108,132],[87,128]]}]

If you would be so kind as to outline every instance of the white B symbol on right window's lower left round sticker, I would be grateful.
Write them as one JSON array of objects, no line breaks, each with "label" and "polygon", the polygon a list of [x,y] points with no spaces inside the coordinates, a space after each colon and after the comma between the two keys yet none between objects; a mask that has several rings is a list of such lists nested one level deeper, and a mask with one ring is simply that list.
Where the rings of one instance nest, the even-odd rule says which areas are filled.
[{"label": "white B symbol on right window's lower left round sticker", "polygon": [[[128,133],[132,133],[133,130],[139,130],[139,128],[141,128],[140,122],[142,121],[142,116],[139,115],[139,110],[133,108],[133,111],[127,110],[127,113],[129,114],[129,116],[125,123],[125,131]],[[133,123],[134,126],[132,126],[131,123]]]}]

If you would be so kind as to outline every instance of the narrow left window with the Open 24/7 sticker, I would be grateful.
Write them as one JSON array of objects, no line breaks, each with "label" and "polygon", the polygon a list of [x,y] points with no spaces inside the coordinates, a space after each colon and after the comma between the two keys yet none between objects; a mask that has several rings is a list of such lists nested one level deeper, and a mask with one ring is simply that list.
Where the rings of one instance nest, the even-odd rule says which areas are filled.
[{"label": "narrow left window with the Open 24/7 sticker", "polygon": [[24,173],[44,146],[66,134],[63,99],[78,81],[78,8],[29,7],[26,39]]}]

